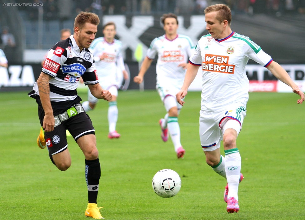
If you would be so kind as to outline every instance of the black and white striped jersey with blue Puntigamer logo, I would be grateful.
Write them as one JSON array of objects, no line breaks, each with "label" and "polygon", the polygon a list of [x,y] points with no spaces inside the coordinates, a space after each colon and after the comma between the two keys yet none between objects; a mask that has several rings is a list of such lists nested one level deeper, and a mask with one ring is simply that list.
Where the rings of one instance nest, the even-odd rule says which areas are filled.
[{"label": "black and white striped jersey with blue Puntigamer logo", "polygon": [[[49,50],[42,72],[52,77],[49,85],[53,109],[68,109],[81,101],[76,91],[81,76],[85,85],[98,83],[94,56],[88,49],[80,51],[73,35]],[[28,95],[41,105],[37,81]]]}]

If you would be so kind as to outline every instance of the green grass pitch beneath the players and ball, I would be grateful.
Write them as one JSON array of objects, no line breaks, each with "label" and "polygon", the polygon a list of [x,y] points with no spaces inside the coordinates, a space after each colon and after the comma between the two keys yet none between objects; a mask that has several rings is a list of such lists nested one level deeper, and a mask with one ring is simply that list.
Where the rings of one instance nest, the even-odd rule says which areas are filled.
[{"label": "green grass pitch beneath the players and ball", "polygon": [[[79,94],[87,100],[87,94]],[[165,109],[155,90],[119,91],[117,131],[109,140],[108,104],[88,113],[96,130],[101,179],[98,206],[105,219],[305,219],[305,106],[292,93],[250,93],[237,139],[245,179],[240,212],[227,214],[226,180],[205,162],[199,140],[200,92],[189,92],[179,116],[178,160],[169,139],[160,137]],[[84,156],[72,137],[72,166],[59,171],[39,149],[37,104],[27,92],[0,93],[0,219],[86,219]],[[221,147],[223,154],[223,148]],[[182,179],[172,198],[158,197],[154,174],[173,169]]]}]

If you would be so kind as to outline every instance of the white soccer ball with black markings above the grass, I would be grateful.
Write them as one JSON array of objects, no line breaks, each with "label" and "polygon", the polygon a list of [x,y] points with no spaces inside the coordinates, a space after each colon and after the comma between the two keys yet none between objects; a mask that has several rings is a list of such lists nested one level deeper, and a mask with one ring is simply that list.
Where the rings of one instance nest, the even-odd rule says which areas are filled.
[{"label": "white soccer ball with black markings above the grass", "polygon": [[162,198],[176,195],[181,188],[180,176],[171,169],[158,171],[153,177],[153,190]]}]

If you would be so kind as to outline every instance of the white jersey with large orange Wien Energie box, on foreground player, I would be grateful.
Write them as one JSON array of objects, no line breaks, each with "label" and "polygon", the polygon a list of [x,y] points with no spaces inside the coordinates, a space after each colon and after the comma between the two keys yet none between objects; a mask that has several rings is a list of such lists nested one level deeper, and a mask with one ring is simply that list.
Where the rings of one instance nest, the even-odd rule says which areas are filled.
[{"label": "white jersey with large orange Wien Energie box, on foreground player", "polygon": [[249,59],[265,67],[272,62],[249,37],[235,32],[220,40],[210,34],[200,38],[189,62],[202,68],[202,110],[236,104],[246,107],[249,80],[245,67]]}]

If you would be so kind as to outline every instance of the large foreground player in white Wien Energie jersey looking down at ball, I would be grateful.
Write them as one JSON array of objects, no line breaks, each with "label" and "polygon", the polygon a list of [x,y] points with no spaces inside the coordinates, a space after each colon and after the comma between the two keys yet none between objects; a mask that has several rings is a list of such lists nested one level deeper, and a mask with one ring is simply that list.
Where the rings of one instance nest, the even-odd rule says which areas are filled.
[{"label": "large foreground player in white Wien Energie jersey looking down at ball", "polygon": [[[294,93],[301,96],[297,103],[302,104],[304,93],[260,46],[249,37],[232,32],[229,7],[217,4],[207,7],[204,12],[209,34],[198,41],[196,53],[189,60],[183,86],[176,98],[183,105],[182,99],[187,95],[187,89],[201,66],[201,146],[207,164],[227,179],[224,200],[227,202],[227,212],[234,213],[239,211],[237,192],[243,178],[236,139],[246,116],[249,80],[245,66],[248,60],[252,59],[265,66],[274,76],[290,86]],[[225,157],[220,155],[221,140]]]}]

